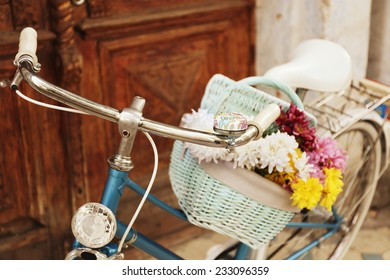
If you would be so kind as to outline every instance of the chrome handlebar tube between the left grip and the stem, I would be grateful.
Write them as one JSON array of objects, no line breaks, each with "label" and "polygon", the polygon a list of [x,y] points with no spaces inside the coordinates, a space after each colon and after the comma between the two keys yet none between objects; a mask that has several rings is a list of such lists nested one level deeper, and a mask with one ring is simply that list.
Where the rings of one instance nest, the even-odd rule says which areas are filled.
[{"label": "chrome handlebar tube between the left grip and the stem", "polygon": [[28,61],[22,62],[19,69],[27,83],[43,95],[99,118],[115,123],[119,121],[120,112],[117,109],[93,102],[43,80],[34,73]]}]

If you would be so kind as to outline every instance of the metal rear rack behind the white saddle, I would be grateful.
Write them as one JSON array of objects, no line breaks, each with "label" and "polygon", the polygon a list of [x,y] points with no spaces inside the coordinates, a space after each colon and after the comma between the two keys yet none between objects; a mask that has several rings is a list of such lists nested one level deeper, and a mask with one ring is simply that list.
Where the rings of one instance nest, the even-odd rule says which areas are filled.
[{"label": "metal rear rack behind the white saddle", "polygon": [[305,110],[317,118],[319,134],[328,131],[333,137],[382,105],[385,108],[380,115],[386,118],[386,106],[390,105],[390,87],[370,80],[354,82],[338,93],[315,94],[305,105]]}]

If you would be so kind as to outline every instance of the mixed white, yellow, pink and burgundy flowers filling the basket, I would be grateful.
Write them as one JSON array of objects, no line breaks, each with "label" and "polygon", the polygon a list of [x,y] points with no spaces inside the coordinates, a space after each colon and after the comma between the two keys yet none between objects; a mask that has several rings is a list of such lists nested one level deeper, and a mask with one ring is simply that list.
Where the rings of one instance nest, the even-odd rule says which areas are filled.
[{"label": "mixed white, yellow, pink and burgundy flowers filling the basket", "polygon": [[[214,114],[204,109],[183,118],[187,128],[211,132],[213,124]],[[232,150],[191,143],[184,148],[199,164],[232,162],[232,168],[245,168],[277,183],[291,193],[291,203],[299,209],[320,205],[331,211],[342,191],[346,153],[332,138],[317,137],[315,127],[293,103],[259,140]]]}]

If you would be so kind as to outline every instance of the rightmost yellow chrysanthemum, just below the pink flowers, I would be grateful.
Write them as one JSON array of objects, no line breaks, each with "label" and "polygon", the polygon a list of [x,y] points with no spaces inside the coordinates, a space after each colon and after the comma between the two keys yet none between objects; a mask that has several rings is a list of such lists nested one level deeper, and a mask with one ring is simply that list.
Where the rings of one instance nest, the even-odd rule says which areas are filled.
[{"label": "rightmost yellow chrysanthemum, just below the pink flowers", "polygon": [[323,198],[320,202],[330,212],[332,205],[337,199],[339,193],[343,190],[344,183],[342,181],[341,170],[336,168],[325,168],[325,184],[323,190]]}]

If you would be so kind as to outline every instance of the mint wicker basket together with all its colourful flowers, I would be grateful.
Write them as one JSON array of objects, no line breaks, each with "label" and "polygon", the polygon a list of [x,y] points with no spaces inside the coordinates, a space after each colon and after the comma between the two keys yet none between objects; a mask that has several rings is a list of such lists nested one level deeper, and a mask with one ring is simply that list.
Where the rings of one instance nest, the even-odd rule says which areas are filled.
[{"label": "mint wicker basket together with all its colourful flowers", "polygon": [[214,116],[240,112],[248,121],[276,103],[280,117],[263,137],[234,149],[176,141],[170,179],[188,220],[258,248],[302,209],[331,211],[342,191],[346,155],[316,135],[316,120],[287,103],[220,74],[208,83],[201,107],[183,116],[187,128],[213,131]]}]

